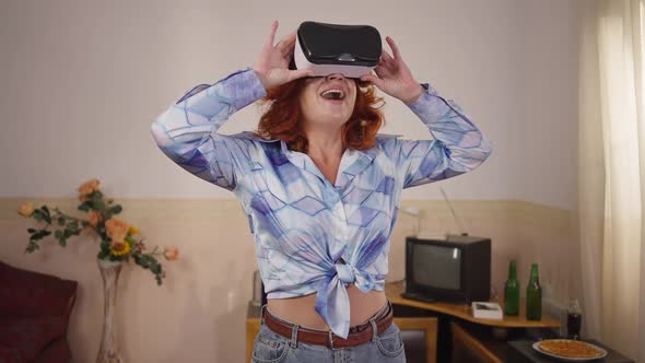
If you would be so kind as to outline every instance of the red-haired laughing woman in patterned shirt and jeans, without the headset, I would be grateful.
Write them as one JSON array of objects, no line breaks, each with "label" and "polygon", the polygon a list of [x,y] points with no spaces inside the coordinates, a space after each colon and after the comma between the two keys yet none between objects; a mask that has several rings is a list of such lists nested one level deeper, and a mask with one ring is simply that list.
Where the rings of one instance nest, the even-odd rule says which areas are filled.
[{"label": "red-haired laughing woman in patterned shirt and jeans, without the headset", "polygon": [[[404,362],[385,293],[389,236],[403,188],[469,172],[490,154],[452,102],[417,82],[397,48],[374,74],[290,70],[295,32],[253,69],[187,92],[152,125],[163,152],[232,190],[249,221],[268,304],[255,362]],[[434,140],[377,134],[374,86],[402,101]],[[265,98],[259,133],[218,129]]]}]

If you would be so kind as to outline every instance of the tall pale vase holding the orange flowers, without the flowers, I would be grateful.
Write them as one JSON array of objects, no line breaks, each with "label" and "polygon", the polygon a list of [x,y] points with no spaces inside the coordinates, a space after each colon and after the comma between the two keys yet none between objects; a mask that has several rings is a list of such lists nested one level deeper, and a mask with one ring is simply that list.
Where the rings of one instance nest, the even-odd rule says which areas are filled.
[{"label": "tall pale vase holding the orange flowers, without the flowers", "polygon": [[101,338],[101,348],[96,356],[96,363],[122,363],[124,360],[119,354],[117,327],[116,327],[116,297],[119,273],[121,272],[121,261],[106,261],[98,259],[98,269],[103,278],[104,320],[103,337]]}]

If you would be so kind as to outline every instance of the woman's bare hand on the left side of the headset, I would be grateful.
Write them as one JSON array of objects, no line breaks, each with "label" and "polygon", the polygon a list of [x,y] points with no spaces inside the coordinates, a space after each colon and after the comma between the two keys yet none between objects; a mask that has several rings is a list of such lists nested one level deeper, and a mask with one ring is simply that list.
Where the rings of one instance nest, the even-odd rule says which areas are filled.
[{"label": "woman's bare hand on the left side of the headset", "polygon": [[278,21],[273,21],[273,24],[271,25],[271,34],[265,43],[262,51],[253,68],[266,90],[291,82],[298,78],[314,75],[314,71],[312,70],[289,69],[289,62],[293,57],[293,49],[295,47],[295,32],[292,32],[280,39],[277,45],[273,45],[275,31],[278,31]]}]

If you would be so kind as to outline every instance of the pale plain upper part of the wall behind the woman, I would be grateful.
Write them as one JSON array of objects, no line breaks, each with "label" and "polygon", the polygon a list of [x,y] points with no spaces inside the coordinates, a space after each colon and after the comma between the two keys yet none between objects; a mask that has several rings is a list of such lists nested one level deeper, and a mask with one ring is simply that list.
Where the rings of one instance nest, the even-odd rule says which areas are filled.
[{"label": "pale plain upper part of the wall behind the woman", "polygon": [[[419,81],[454,98],[493,143],[454,199],[576,208],[574,0],[23,0],[0,2],[0,197],[71,197],[99,177],[122,198],[231,198],[178,172],[150,124],[185,91],[253,65],[271,21],[367,23]],[[430,137],[387,97],[384,132]],[[257,109],[224,133],[255,128]],[[15,157],[20,155],[20,157]],[[127,162],[126,162],[127,161]],[[46,175],[47,183],[42,178]],[[441,199],[436,185],[404,199]]]}]

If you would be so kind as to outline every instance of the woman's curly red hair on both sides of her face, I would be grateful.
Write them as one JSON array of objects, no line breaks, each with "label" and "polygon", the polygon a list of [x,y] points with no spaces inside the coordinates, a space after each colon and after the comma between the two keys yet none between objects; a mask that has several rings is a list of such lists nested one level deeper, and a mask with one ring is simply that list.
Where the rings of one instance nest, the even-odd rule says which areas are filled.
[{"label": "woman's curly red hair on both sides of her face", "polygon": [[[289,149],[306,153],[308,140],[301,128],[300,94],[305,87],[306,79],[292,82],[267,91],[262,104],[269,104],[268,110],[260,118],[258,136],[266,140],[280,139]],[[370,82],[354,80],[356,83],[356,102],[350,119],[342,126],[343,148],[366,150],[374,147],[376,133],[385,122],[380,107],[383,97],[376,95],[376,89]]]}]

